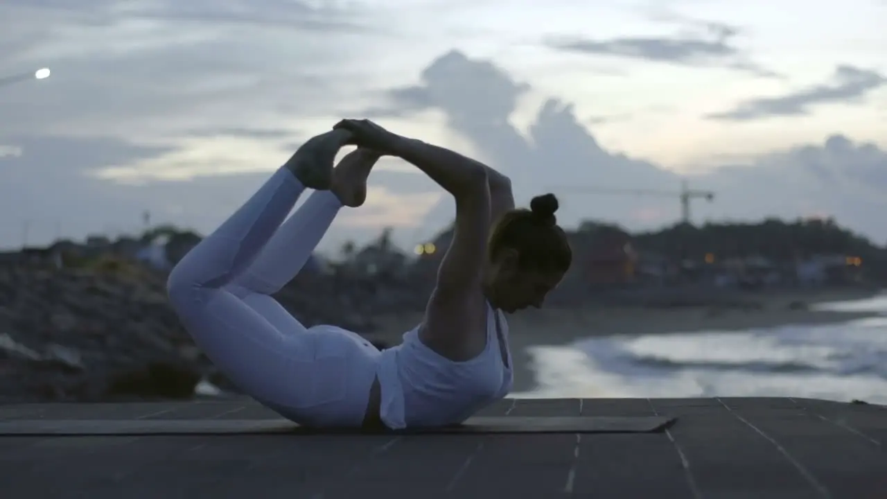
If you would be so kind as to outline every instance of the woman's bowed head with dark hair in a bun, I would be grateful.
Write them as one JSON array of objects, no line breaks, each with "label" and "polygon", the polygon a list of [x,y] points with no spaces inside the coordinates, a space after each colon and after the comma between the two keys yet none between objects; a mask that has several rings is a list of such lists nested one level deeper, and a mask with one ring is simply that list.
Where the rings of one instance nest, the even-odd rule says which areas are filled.
[{"label": "woman's bowed head with dark hair in a bun", "polygon": [[530,210],[508,211],[493,226],[487,288],[494,306],[508,313],[539,307],[569,270],[573,252],[557,209],[554,194],[537,196]]}]

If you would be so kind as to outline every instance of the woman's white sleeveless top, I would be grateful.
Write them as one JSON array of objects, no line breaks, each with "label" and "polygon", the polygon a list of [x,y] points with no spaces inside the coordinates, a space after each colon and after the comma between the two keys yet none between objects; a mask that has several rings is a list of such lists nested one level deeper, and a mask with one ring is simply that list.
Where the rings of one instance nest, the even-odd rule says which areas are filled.
[{"label": "woman's white sleeveless top", "polygon": [[380,416],[389,428],[460,424],[511,392],[514,372],[505,317],[487,304],[487,345],[463,362],[424,345],[417,326],[404,334],[404,343],[381,352],[378,375]]}]

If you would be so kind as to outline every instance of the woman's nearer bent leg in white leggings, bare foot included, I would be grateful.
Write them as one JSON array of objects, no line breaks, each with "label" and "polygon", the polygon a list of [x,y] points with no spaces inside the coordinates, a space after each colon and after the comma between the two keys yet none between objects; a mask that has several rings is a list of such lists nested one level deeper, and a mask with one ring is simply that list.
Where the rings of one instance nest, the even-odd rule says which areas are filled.
[{"label": "woman's nearer bent leg in white leggings, bare foot included", "polygon": [[[322,169],[332,170],[343,140],[341,135],[324,140],[313,151],[297,152],[291,160],[297,164],[278,170],[169,275],[170,302],[195,343],[242,390],[279,408],[312,408],[340,397],[347,369],[315,376],[317,345],[310,336],[282,335],[224,287],[255,262],[306,184],[324,187],[325,175],[328,182]],[[321,147],[335,150],[330,155],[318,151]]]}]

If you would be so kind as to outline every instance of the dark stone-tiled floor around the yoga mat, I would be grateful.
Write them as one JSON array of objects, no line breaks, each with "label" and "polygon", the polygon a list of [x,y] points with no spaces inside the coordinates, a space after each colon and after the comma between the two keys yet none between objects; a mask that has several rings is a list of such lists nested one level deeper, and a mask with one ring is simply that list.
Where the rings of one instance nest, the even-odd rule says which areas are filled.
[{"label": "dark stone-tiled floor around the yoga mat", "polygon": [[[887,408],[824,400],[503,400],[481,416],[675,416],[664,432],[0,435],[10,498],[866,499],[887,494]],[[251,402],[0,406],[0,421],[250,419]]]}]

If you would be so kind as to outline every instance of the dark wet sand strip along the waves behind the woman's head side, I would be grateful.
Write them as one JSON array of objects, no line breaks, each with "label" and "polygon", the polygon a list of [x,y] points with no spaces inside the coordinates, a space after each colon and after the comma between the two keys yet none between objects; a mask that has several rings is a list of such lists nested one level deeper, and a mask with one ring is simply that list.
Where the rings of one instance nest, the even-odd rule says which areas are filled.
[{"label": "dark wet sand strip along the waves behind the woman's head side", "polygon": [[[585,337],[651,335],[668,333],[739,331],[788,325],[825,325],[864,319],[868,312],[830,312],[797,308],[798,304],[849,301],[872,297],[875,292],[857,289],[772,292],[749,295],[746,308],[734,306],[641,307],[588,305],[583,308],[541,309],[507,317],[514,358],[514,391],[531,390],[535,375],[528,348],[537,345],[569,345]],[[373,335],[389,345],[400,343],[421,314],[379,317],[381,333]]]}]

